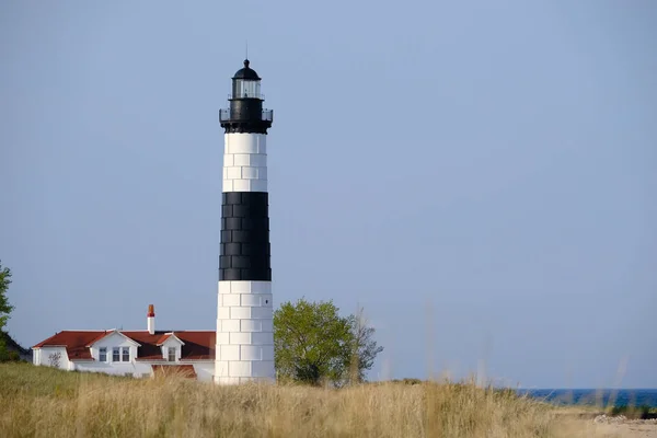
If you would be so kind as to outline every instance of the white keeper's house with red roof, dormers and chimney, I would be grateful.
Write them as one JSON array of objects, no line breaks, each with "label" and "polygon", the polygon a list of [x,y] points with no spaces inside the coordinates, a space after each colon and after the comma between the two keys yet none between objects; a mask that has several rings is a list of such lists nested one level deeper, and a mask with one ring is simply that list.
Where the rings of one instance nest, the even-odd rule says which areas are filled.
[{"label": "white keeper's house with red roof, dormers and chimney", "polygon": [[215,331],[155,331],[149,306],[148,330],[64,331],[32,347],[34,365],[69,371],[151,377],[182,372],[201,381],[215,373]]}]

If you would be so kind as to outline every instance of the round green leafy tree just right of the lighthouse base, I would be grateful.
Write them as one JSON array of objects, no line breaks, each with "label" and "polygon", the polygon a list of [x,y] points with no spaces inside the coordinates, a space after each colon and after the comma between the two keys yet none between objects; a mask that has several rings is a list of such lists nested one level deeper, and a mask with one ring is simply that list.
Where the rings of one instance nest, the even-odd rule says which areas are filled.
[{"label": "round green leafy tree just right of the lighthouse base", "polygon": [[328,302],[285,302],[274,312],[274,348],[279,379],[336,385],[362,381],[383,350],[372,339],[362,311],[343,318]]}]

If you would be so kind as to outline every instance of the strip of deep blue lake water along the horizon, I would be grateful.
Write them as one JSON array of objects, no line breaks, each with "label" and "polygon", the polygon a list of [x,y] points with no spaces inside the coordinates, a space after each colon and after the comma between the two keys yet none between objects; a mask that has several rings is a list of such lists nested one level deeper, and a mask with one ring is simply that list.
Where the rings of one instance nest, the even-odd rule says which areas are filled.
[{"label": "strip of deep blue lake water along the horizon", "polygon": [[[608,406],[657,407],[657,389],[643,390],[518,390],[519,394],[546,400],[556,404],[601,404]],[[610,403],[612,402],[612,403]]]}]

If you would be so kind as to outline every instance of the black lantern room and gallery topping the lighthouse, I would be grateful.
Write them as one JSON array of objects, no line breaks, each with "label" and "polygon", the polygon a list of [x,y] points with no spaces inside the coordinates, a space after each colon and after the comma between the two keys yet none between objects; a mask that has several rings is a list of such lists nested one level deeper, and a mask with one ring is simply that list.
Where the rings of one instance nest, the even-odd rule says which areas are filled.
[{"label": "black lantern room and gallery topping the lighthouse", "polygon": [[245,59],[244,67],[232,77],[229,107],[219,112],[219,122],[226,132],[267,134],[272,126],[273,112],[263,108],[265,96],[261,94],[261,78],[249,65]]}]

